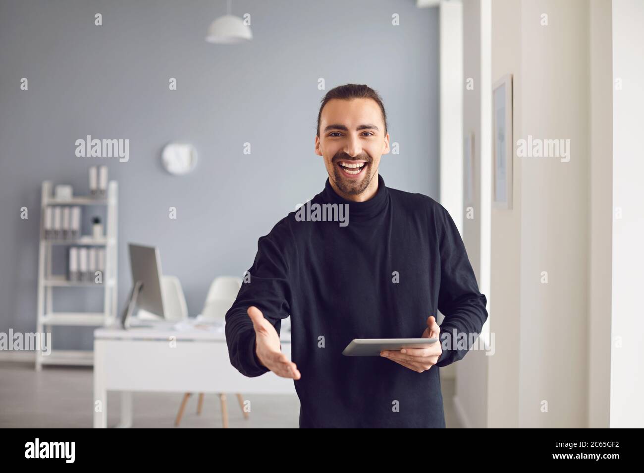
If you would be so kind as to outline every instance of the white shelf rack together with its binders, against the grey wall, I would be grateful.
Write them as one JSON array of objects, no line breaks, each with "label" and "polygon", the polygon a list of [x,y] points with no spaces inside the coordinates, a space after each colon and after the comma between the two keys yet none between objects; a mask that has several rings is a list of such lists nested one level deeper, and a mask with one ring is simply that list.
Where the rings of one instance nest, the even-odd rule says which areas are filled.
[{"label": "white shelf rack together with its binders, against the grey wall", "polygon": [[[70,340],[72,334],[71,340],[75,340],[76,335],[73,334],[78,332],[69,327],[107,326],[116,320],[118,184],[109,181],[105,188],[103,195],[98,191],[97,195],[91,196],[53,198],[52,182],[43,182],[37,302],[39,333],[51,332],[53,327],[58,327],[56,333],[66,331],[63,339]],[[97,220],[100,221],[98,228]],[[87,296],[82,293],[76,295],[79,294],[76,291],[90,288],[92,290]],[[99,288],[102,289],[102,298],[90,295],[97,294],[94,290]],[[66,291],[73,292],[68,295]],[[78,304],[91,310],[76,311]],[[93,307],[88,307],[88,304]],[[68,307],[63,307],[65,305]],[[91,350],[57,347],[57,339],[52,337],[52,354],[60,356],[43,356],[42,352],[37,352],[37,370],[45,364],[92,364]]]}]

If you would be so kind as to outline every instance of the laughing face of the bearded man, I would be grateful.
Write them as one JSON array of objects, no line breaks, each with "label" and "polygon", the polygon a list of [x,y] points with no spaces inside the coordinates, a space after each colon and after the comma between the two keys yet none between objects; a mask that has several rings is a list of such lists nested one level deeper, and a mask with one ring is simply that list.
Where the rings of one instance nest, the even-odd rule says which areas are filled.
[{"label": "laughing face of the bearded man", "polygon": [[380,157],[389,152],[378,104],[372,99],[332,99],[322,109],[319,133],[316,155],[324,158],[332,187],[351,200],[375,193]]}]

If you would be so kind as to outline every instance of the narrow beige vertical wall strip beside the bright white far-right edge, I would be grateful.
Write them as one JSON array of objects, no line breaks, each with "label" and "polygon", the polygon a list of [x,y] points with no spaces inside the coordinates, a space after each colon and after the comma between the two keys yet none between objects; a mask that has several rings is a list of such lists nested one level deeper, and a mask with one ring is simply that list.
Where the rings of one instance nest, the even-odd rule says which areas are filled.
[{"label": "narrow beige vertical wall strip beside the bright white far-right edge", "polygon": [[611,0],[590,4],[588,427],[609,426],[612,245]]}]

